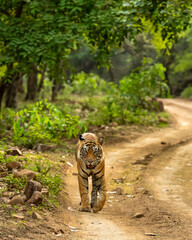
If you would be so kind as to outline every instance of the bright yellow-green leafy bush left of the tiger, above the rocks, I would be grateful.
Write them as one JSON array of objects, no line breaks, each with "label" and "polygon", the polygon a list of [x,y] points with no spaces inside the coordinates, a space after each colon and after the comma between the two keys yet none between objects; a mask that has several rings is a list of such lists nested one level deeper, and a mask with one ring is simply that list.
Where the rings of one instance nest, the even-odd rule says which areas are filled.
[{"label": "bright yellow-green leafy bush left of the tiger, above the rocks", "polygon": [[63,114],[53,104],[40,101],[16,113],[13,141],[28,147],[38,142],[71,138],[86,130],[77,116]]}]

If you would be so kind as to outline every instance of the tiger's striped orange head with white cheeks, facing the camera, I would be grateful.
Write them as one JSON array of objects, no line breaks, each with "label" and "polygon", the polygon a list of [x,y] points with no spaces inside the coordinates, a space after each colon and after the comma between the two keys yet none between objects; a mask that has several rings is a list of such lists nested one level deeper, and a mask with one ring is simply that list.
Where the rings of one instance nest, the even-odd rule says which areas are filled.
[{"label": "tiger's striped orange head with white cheeks, facing the camera", "polygon": [[103,156],[101,145],[103,137],[97,138],[93,133],[84,133],[79,136],[81,143],[80,158],[86,164],[87,169],[94,169]]}]

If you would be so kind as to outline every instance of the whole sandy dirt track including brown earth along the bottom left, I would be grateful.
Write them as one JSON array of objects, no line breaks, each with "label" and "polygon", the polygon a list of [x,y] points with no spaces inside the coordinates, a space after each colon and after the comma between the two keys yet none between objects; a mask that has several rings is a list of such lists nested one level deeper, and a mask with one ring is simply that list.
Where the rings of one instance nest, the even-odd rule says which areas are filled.
[{"label": "whole sandy dirt track including brown earth along the bottom left", "polygon": [[[78,211],[73,155],[62,164],[60,207],[33,219],[25,206],[4,205],[0,240],[192,240],[192,102],[163,102],[172,116],[169,128],[118,127],[107,135],[108,200],[101,212]],[[15,212],[24,220],[13,218]]]}]

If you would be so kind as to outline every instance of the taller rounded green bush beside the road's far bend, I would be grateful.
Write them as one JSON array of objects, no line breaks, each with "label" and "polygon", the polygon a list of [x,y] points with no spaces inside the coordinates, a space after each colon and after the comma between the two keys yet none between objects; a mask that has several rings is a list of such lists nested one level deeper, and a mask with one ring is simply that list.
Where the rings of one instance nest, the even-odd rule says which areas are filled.
[{"label": "taller rounded green bush beside the road's far bend", "polygon": [[108,94],[105,108],[102,109],[108,121],[146,124],[149,111],[158,110],[152,98],[169,94],[164,71],[162,64],[152,64],[150,59],[144,59],[142,67],[129,77],[124,77],[119,83],[119,89]]}]

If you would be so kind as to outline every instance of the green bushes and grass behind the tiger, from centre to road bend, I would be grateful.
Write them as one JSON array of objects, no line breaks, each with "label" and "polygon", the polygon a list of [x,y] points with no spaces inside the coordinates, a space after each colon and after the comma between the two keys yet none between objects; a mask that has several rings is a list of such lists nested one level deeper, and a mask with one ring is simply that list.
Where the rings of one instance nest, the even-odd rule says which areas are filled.
[{"label": "green bushes and grass behind the tiger, from centre to road bend", "polygon": [[[118,124],[159,125],[156,97],[170,95],[165,81],[165,68],[144,59],[143,66],[124,77],[119,85],[98,76],[79,73],[72,85],[66,85],[56,105],[62,112],[76,114],[86,127]],[[73,93],[73,94],[72,94]],[[61,106],[61,101],[65,105]]]}]

